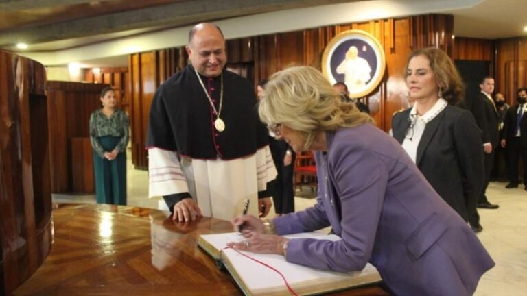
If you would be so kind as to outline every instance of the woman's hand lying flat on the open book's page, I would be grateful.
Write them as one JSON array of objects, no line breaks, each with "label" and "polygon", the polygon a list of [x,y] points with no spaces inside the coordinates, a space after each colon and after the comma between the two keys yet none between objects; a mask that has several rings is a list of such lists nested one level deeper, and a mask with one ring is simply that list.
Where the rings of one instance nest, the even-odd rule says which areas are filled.
[{"label": "woman's hand lying flat on the open book's page", "polygon": [[244,241],[227,243],[227,247],[253,253],[283,255],[283,245],[289,240],[283,236],[259,234],[257,232],[250,232],[245,237],[246,240]]}]

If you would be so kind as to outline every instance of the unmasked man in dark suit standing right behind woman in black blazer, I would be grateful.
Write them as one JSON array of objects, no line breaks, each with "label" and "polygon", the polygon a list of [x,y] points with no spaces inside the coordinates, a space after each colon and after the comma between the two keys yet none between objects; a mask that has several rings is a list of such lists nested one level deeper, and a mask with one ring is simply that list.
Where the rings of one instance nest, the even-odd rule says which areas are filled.
[{"label": "unmasked man in dark suit standing right behind woman in black blazer", "polygon": [[[474,119],[476,119],[476,124],[481,129],[483,140],[485,179],[480,197],[478,198],[478,208],[497,209],[500,206],[491,204],[487,199],[487,195],[485,195],[494,164],[495,147],[500,142],[498,132],[499,115],[497,114],[496,106],[491,96],[494,91],[494,78],[490,76],[484,77],[480,83],[480,90],[481,92],[478,95],[473,97],[469,96],[465,99],[467,108],[472,112]],[[480,231],[482,229],[480,215],[477,211],[470,217],[469,222],[474,231]]]}]

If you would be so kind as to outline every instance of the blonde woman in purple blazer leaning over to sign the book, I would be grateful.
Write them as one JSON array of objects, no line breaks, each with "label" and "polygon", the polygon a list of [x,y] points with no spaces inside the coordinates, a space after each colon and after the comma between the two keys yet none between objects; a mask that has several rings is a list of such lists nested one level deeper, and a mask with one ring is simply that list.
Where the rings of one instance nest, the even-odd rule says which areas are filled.
[{"label": "blonde woman in purple blazer leaning over to sign the book", "polygon": [[[371,262],[395,295],[472,295],[494,266],[401,145],[342,102],[316,69],[274,74],[259,113],[294,151],[315,151],[318,203],[272,221],[237,217],[233,224],[244,224],[247,239],[231,247],[331,271]],[[281,236],[328,226],[342,240]]]}]

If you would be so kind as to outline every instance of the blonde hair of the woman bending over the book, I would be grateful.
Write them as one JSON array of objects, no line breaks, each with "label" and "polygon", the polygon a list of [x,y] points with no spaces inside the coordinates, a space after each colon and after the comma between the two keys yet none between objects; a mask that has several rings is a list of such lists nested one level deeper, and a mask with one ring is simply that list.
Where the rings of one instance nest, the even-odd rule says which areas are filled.
[{"label": "blonde hair of the woman bending over the book", "polygon": [[271,76],[259,104],[268,125],[285,124],[305,135],[309,149],[317,132],[374,123],[355,103],[342,101],[327,79],[311,66],[294,66]]}]

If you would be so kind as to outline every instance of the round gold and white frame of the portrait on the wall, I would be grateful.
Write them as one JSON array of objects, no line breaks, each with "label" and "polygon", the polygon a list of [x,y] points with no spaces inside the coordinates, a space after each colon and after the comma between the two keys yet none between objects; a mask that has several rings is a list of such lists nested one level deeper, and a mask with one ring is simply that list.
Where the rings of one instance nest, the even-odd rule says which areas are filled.
[{"label": "round gold and white frame of the portrait on the wall", "polygon": [[377,66],[375,69],[371,69],[373,75],[371,75],[371,79],[366,83],[364,88],[360,88],[355,91],[349,89],[349,97],[358,99],[372,93],[373,90],[379,86],[384,77],[384,70],[386,69],[386,57],[384,56],[384,48],[382,47],[379,40],[375,38],[375,36],[360,29],[351,29],[337,34],[335,37],[333,37],[333,39],[331,39],[331,41],[329,41],[328,45],[324,49],[320,68],[322,68],[322,73],[331,84],[338,82],[338,80],[333,77],[333,73],[331,73],[331,70],[333,70],[331,69],[331,59],[333,58],[333,54],[335,53],[336,49],[340,47],[340,45],[342,45],[344,42],[352,40],[362,40],[363,42],[366,42],[366,44],[371,47],[371,49],[373,49],[375,58],[377,60]]}]

